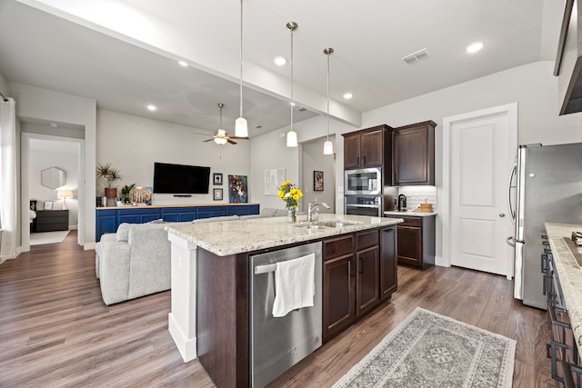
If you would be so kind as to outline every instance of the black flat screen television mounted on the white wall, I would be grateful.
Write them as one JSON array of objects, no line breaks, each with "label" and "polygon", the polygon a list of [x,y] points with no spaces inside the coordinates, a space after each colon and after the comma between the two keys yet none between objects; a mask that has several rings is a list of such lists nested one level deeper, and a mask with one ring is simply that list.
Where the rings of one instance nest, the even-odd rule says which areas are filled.
[{"label": "black flat screen television mounted on the white wall", "polygon": [[210,167],[154,163],[154,193],[208,194]]}]

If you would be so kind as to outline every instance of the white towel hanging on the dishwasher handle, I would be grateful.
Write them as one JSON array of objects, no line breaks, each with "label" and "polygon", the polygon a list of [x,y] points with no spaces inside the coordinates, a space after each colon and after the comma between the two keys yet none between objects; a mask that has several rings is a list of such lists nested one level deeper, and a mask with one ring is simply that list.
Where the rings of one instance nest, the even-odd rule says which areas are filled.
[{"label": "white towel hanging on the dishwasher handle", "polygon": [[279,262],[275,270],[275,302],[273,316],[313,306],[316,293],[316,254]]}]

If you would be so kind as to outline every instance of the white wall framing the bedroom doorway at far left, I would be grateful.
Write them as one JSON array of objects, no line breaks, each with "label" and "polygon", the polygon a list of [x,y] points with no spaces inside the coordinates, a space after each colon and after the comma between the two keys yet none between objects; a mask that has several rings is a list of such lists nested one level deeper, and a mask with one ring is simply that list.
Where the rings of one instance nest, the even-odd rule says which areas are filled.
[{"label": "white wall framing the bedroom doorway at far left", "polygon": [[[80,150],[79,171],[79,234],[78,243],[85,249],[95,248],[95,131],[96,102],[94,99],[66,95],[35,86],[9,83],[16,101],[19,120],[74,124],[85,130],[85,142]],[[24,172],[22,174],[25,174]],[[26,173],[27,174],[27,173]],[[28,187],[21,186],[22,217],[28,218]],[[23,225],[27,227],[28,225]]]}]

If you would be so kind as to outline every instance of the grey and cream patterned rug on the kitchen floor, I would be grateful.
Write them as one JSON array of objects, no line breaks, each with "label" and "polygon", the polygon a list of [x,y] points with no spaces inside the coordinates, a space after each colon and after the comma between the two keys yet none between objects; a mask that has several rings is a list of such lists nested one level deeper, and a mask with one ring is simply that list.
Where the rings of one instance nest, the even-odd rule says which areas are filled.
[{"label": "grey and cream patterned rug on the kitchen floor", "polygon": [[334,388],[511,387],[516,341],[416,307]]}]

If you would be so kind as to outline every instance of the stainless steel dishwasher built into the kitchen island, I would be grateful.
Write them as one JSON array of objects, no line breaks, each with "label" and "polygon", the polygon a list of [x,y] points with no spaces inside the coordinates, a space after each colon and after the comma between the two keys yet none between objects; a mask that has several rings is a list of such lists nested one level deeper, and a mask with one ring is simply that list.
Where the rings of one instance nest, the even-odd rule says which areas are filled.
[{"label": "stainless steel dishwasher built into the kitchen island", "polygon": [[[317,242],[250,257],[251,386],[265,386],[321,346],[321,250],[321,242]],[[316,255],[313,307],[300,308],[275,318],[276,263],[312,253]]]}]

